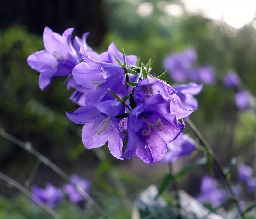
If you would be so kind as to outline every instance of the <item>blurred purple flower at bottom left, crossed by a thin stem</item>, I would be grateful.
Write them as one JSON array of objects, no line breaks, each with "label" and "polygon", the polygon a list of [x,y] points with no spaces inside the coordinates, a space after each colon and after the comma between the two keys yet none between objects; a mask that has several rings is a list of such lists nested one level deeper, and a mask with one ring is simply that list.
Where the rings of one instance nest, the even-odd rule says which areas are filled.
[{"label": "blurred purple flower at bottom left, crossed by a thin stem", "polygon": [[[75,184],[75,186],[79,187],[79,189],[81,188],[87,194],[89,193],[89,189],[91,187],[91,182],[88,179],[82,179],[78,175],[73,174],[70,177],[70,180],[72,183]],[[74,187],[74,185],[72,183],[68,183],[63,187],[65,193],[68,194],[69,200],[74,203],[83,201],[84,198],[77,192],[76,188]]]}]

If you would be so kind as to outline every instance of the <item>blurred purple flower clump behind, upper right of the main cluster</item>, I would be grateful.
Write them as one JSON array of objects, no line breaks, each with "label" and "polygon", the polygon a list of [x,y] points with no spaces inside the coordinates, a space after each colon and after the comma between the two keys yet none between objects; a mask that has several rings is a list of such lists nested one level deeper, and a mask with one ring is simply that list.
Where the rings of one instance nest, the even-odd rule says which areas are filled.
[{"label": "blurred purple flower clump behind, upper right of the main cluster", "polygon": [[176,82],[193,81],[202,84],[214,84],[215,73],[211,66],[196,67],[196,50],[188,48],[182,52],[167,55],[163,60],[163,67],[168,70],[171,78]]}]

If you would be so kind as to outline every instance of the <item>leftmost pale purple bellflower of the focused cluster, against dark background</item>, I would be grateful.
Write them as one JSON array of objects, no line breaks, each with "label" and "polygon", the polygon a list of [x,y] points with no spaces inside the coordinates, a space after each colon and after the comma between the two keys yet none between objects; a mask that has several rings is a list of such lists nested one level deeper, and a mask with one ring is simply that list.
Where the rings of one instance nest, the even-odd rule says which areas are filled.
[{"label": "leftmost pale purple bellflower of the focused cluster, against dark background", "polygon": [[49,27],[44,28],[43,41],[45,50],[35,52],[27,59],[28,65],[40,72],[39,87],[43,90],[54,76],[68,76],[78,63],[77,55],[71,44],[73,28],[62,35],[54,33]]}]

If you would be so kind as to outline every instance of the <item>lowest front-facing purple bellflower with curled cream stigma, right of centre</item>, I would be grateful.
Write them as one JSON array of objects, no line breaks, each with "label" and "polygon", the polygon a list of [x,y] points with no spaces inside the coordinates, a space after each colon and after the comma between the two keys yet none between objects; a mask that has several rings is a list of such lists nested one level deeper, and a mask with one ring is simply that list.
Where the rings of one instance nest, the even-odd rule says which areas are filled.
[{"label": "lowest front-facing purple bellflower with curled cream stigma, right of centre", "polygon": [[131,158],[136,151],[137,157],[148,164],[161,160],[167,144],[180,135],[185,127],[177,120],[181,118],[180,113],[175,109],[173,114],[171,110],[170,102],[161,94],[149,97],[132,109],[128,117],[127,148],[122,158]]}]

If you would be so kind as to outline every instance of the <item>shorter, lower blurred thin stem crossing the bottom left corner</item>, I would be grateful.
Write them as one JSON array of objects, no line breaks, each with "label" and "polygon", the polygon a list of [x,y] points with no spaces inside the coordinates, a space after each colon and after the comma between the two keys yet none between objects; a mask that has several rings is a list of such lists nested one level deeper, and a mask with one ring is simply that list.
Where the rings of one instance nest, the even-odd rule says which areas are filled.
[{"label": "shorter, lower blurred thin stem crossing the bottom left corner", "polygon": [[13,186],[14,188],[18,189],[21,193],[26,195],[29,199],[34,201],[40,208],[42,208],[45,212],[47,212],[49,215],[51,215],[54,219],[61,218],[60,215],[58,215],[52,208],[50,208],[48,205],[46,205],[43,201],[38,199],[33,193],[31,193],[28,189],[26,189],[24,186],[20,185],[18,182],[16,182],[14,179],[4,175],[0,172],[0,179],[8,183],[9,185]]}]

